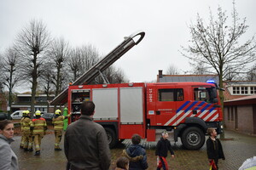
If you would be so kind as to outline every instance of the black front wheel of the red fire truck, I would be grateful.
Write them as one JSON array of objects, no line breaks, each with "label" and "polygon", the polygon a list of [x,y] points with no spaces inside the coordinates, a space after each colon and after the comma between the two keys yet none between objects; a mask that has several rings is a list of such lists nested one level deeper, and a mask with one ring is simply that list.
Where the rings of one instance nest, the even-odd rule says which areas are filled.
[{"label": "black front wheel of the red fire truck", "polygon": [[199,127],[186,128],[181,136],[183,146],[188,150],[199,150],[205,144],[205,134]]}]

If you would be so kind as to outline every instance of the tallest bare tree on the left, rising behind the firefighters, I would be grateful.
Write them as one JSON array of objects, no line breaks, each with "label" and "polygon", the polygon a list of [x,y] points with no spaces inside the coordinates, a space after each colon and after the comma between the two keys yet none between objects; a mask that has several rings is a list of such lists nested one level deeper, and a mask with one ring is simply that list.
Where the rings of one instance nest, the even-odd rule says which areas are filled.
[{"label": "tallest bare tree on the left, rising behind the firefighters", "polygon": [[24,79],[32,83],[31,111],[35,111],[35,96],[38,87],[38,77],[41,76],[46,54],[50,44],[49,31],[41,20],[31,20],[16,39],[16,49],[20,56],[20,70]]}]

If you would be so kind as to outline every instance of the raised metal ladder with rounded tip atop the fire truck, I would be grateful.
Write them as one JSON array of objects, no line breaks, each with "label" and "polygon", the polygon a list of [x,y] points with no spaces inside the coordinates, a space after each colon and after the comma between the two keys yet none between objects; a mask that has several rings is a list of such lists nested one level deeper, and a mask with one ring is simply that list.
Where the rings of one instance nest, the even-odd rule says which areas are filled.
[{"label": "raised metal ladder with rounded tip atop the fire truck", "polygon": [[[137,39],[137,36],[140,37],[138,37]],[[108,80],[103,77],[102,71],[105,71],[110,65],[112,65],[128,50],[130,50],[134,45],[137,45],[139,42],[141,42],[144,36],[145,32],[137,31],[136,33],[131,34],[131,36],[125,37],[125,40],[123,42],[121,42],[109,54],[107,54],[104,58],[97,62],[96,65],[93,65],[88,71],[84,72],[81,77],[73,82],[73,85],[88,84],[99,75],[102,76],[105,83],[108,83]],[[56,96],[55,99],[50,102],[50,105],[64,105],[65,103],[67,103],[67,94],[68,88],[66,88],[61,92],[61,94]]]}]

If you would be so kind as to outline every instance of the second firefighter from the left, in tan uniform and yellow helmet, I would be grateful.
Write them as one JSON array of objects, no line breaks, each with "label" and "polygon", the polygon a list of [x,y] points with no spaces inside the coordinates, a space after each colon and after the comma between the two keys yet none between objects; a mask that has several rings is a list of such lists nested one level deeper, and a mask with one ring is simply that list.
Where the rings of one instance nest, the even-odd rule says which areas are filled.
[{"label": "second firefighter from the left, in tan uniform and yellow helmet", "polygon": [[26,111],[26,116],[23,120],[23,136],[24,136],[24,144],[23,149],[25,151],[32,151],[32,131],[30,130],[30,125],[32,123],[32,120],[30,118],[30,111]]}]

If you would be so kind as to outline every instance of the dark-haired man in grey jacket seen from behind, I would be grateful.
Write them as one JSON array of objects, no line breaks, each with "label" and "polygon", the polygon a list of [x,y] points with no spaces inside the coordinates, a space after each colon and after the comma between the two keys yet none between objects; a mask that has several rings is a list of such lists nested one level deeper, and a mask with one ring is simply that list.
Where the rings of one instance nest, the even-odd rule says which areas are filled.
[{"label": "dark-haired man in grey jacket seen from behind", "polygon": [[79,120],[67,127],[64,138],[67,169],[107,170],[110,167],[107,134],[102,125],[92,121],[94,112],[94,103],[84,101]]}]

